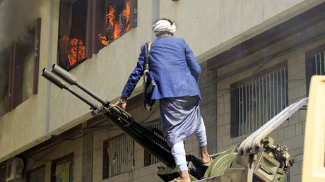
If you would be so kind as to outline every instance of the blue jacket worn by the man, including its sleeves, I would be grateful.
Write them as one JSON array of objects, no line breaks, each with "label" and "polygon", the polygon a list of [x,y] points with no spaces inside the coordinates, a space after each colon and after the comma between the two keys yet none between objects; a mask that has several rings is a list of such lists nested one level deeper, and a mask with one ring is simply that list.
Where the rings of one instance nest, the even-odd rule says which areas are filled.
[{"label": "blue jacket worn by the man, including its sleeves", "polygon": [[[146,44],[141,46],[136,68],[129,76],[122,95],[130,97],[143,75]],[[149,57],[150,78],[156,86],[151,99],[167,97],[199,96],[201,67],[193,52],[181,38],[162,37],[151,44]]]}]

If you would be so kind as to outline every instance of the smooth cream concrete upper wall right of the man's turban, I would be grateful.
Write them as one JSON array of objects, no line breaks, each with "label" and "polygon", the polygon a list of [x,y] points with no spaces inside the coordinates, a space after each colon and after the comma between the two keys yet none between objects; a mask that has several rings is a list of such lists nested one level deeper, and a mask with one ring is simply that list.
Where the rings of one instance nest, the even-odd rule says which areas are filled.
[{"label": "smooth cream concrete upper wall right of the man's turban", "polygon": [[201,63],[297,16],[322,1],[160,1],[160,17],[176,22]]}]

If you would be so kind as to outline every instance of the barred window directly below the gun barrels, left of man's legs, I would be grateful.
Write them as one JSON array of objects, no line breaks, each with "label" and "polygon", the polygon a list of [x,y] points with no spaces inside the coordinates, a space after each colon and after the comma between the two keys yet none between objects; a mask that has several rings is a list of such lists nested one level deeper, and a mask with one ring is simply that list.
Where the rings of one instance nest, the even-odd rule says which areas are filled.
[{"label": "barred window directly below the gun barrels, left of man's legs", "polygon": [[128,135],[105,140],[103,149],[103,179],[134,171],[134,140]]}]

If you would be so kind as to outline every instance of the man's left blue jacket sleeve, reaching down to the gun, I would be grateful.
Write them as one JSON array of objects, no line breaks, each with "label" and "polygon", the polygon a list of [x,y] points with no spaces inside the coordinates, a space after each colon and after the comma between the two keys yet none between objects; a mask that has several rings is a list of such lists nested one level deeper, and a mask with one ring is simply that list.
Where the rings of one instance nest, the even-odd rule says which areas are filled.
[{"label": "man's left blue jacket sleeve, reaching down to the gun", "polygon": [[130,97],[131,93],[133,92],[138,80],[140,80],[141,76],[143,75],[143,65],[144,59],[146,56],[146,44],[141,46],[141,54],[138,56],[138,63],[136,64],[136,68],[132,71],[131,75],[129,76],[129,80],[126,81],[124,89],[122,91],[122,95],[125,97]]}]

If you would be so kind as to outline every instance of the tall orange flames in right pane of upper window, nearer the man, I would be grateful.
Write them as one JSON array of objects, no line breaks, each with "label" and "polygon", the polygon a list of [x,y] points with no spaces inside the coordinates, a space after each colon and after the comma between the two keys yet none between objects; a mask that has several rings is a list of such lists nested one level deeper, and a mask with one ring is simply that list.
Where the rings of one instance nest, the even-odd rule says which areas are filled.
[{"label": "tall orange flames in right pane of upper window, nearer the man", "polygon": [[[123,26],[127,27],[125,28],[124,33],[129,32],[130,26],[129,26],[129,18],[130,18],[130,0],[126,1],[126,7],[122,10],[117,17],[114,17],[114,8],[108,4],[108,14],[107,14],[107,29],[106,29],[106,36],[103,36],[102,34],[99,34],[99,40],[104,45],[110,44],[110,42],[113,42],[117,38],[120,37],[121,31],[123,29]],[[122,19],[122,20],[121,20]],[[122,22],[121,22],[122,21]],[[121,25],[122,23],[122,25]]]}]

